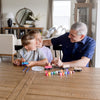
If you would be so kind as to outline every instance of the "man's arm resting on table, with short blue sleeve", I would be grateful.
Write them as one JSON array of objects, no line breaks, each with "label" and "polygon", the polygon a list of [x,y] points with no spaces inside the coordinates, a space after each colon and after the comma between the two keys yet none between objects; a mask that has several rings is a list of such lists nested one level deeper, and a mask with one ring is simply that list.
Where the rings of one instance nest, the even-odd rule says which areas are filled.
[{"label": "man's arm resting on table, with short blue sleeve", "polygon": [[64,62],[63,64],[71,67],[85,67],[89,63],[90,59],[92,59],[96,45],[95,40],[93,39],[90,39],[88,42],[87,48],[85,49],[81,59],[71,62]]}]

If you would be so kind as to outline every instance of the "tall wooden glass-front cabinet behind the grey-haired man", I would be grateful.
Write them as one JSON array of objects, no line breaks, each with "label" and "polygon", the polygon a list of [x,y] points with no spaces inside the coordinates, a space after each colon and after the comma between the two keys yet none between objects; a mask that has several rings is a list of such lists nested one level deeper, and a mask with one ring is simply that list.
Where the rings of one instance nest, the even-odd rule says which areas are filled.
[{"label": "tall wooden glass-front cabinet behind the grey-haired man", "polygon": [[74,21],[84,22],[88,27],[88,35],[91,36],[92,4],[91,3],[76,3],[74,13],[75,13]]}]

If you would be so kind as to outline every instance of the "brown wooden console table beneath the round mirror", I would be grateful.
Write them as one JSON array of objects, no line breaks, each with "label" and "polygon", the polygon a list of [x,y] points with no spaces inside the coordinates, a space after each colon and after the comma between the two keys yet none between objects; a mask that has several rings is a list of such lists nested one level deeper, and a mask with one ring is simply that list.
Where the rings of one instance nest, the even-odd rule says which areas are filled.
[{"label": "brown wooden console table beneath the round mirror", "polygon": [[3,33],[6,31],[9,34],[15,34],[18,39],[20,39],[24,34],[26,34],[30,30],[39,30],[41,33],[43,32],[43,27],[3,27]]}]

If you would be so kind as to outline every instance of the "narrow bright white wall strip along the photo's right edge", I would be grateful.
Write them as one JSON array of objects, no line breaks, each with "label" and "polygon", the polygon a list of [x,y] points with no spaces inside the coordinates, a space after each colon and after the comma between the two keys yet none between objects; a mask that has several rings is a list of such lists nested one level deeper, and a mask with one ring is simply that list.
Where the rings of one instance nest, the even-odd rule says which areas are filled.
[{"label": "narrow bright white wall strip along the photo's right edge", "polygon": [[100,0],[97,3],[97,28],[96,28],[96,53],[95,67],[100,68]]}]

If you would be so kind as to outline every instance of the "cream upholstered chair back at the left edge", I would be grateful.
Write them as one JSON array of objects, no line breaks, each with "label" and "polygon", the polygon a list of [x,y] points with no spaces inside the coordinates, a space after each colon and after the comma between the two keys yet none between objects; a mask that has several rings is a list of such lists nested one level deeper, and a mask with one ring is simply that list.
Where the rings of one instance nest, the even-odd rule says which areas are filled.
[{"label": "cream upholstered chair back at the left edge", "polygon": [[0,34],[0,54],[15,54],[16,41],[13,34]]}]

